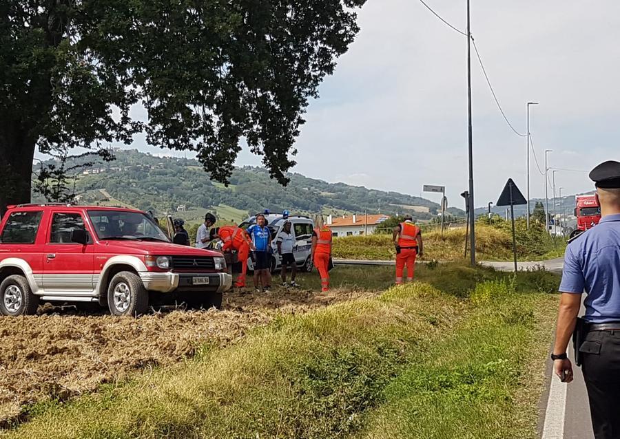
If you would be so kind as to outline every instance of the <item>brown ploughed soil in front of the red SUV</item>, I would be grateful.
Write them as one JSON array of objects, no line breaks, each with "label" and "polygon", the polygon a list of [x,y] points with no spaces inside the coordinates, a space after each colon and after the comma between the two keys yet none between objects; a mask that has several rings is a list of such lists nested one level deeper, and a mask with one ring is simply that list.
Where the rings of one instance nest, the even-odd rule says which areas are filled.
[{"label": "brown ploughed soil in front of the red SUV", "polygon": [[193,356],[203,343],[227,345],[278,314],[296,314],[371,292],[233,292],[223,310],[167,310],[138,319],[45,306],[39,315],[0,317],[0,426],[41,400],[65,400],[122,380],[133,370]]}]

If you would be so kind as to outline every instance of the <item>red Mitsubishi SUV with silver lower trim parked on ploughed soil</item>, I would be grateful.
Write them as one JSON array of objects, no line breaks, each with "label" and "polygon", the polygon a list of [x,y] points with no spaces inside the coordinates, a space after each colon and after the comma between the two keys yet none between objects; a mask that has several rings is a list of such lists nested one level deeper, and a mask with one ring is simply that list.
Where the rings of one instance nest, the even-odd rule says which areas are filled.
[{"label": "red Mitsubishi SUV with silver lower trim parked on ploughed soil", "polygon": [[216,306],[231,288],[221,253],[172,244],[149,215],[126,208],[9,206],[0,223],[0,312],[40,301],[99,303],[117,316],[149,303]]}]

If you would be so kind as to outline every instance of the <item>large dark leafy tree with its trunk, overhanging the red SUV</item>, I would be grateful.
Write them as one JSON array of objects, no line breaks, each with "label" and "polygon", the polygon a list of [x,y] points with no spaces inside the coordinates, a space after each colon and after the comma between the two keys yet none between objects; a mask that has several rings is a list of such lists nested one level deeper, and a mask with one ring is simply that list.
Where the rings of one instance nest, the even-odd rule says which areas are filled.
[{"label": "large dark leafy tree with its trunk, overhanging the red SUV", "polygon": [[364,2],[0,0],[0,204],[30,199],[35,147],[103,149],[139,132],[196,151],[225,183],[245,140],[286,184],[308,100]]}]

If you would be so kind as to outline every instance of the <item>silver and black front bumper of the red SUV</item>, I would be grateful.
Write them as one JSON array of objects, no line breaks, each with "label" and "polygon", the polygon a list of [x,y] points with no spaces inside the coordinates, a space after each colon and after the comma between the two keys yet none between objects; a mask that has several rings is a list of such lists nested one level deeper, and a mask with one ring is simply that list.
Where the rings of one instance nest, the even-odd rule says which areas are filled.
[{"label": "silver and black front bumper of the red SUV", "polygon": [[[232,276],[220,273],[175,273],[175,272],[141,272],[139,273],[144,288],[149,291],[209,291],[225,292],[232,287]],[[194,277],[208,277],[207,285],[194,285]]]}]

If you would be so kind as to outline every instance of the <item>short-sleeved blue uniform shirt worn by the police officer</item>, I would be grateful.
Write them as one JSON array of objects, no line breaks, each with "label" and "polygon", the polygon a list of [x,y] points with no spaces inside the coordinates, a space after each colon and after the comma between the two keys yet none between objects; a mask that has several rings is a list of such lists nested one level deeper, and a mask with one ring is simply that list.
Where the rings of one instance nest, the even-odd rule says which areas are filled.
[{"label": "short-sleeved blue uniform shirt worn by the police officer", "polygon": [[568,244],[559,290],[586,292],[586,321],[620,321],[620,215],[603,217]]}]

